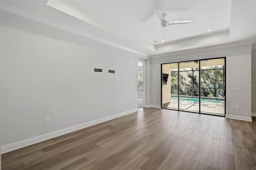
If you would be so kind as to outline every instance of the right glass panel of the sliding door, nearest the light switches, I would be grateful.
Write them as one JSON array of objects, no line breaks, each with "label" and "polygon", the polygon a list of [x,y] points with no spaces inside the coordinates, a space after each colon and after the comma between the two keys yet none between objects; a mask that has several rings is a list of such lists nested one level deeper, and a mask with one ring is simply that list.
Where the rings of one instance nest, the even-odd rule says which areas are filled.
[{"label": "right glass panel of the sliding door, nearest the light switches", "polygon": [[225,59],[200,61],[200,111],[225,115]]}]

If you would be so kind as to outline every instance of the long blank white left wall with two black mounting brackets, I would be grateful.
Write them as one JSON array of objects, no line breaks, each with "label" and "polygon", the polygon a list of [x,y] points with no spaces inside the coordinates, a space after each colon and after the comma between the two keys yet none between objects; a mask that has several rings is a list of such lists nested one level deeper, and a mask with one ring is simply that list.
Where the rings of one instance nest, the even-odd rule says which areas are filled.
[{"label": "long blank white left wall with two black mounting brackets", "polygon": [[136,54],[56,40],[46,28],[49,36],[1,26],[2,146],[138,108]]}]

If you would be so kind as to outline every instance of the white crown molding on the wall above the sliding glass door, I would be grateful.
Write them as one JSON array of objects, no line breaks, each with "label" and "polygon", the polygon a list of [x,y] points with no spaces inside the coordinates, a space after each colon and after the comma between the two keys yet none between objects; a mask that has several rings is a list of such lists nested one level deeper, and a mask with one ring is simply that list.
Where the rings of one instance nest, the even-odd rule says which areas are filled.
[{"label": "white crown molding on the wall above the sliding glass door", "polygon": [[214,50],[214,49],[220,49],[220,48],[228,48],[228,47],[241,46],[241,45],[247,45],[247,44],[252,44],[252,41],[232,42],[232,43],[228,43],[228,44],[220,44],[220,45],[215,45],[215,46],[199,47],[199,48],[188,49],[188,50],[185,50],[184,48],[182,50],[182,48],[180,48],[180,51],[174,51],[174,52],[169,52],[169,53],[164,53],[164,54],[156,54],[156,55],[150,56],[150,58],[174,56],[174,55],[178,55],[178,54],[187,54],[187,53],[191,53],[191,52],[200,52],[200,51]]}]

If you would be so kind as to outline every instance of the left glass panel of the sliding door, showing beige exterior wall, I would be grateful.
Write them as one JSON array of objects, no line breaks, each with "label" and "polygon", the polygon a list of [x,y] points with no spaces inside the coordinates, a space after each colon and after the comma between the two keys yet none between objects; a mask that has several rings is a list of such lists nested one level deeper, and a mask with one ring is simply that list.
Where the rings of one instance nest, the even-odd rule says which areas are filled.
[{"label": "left glass panel of the sliding door, showing beige exterior wall", "polygon": [[162,64],[162,108],[178,110],[178,63]]}]

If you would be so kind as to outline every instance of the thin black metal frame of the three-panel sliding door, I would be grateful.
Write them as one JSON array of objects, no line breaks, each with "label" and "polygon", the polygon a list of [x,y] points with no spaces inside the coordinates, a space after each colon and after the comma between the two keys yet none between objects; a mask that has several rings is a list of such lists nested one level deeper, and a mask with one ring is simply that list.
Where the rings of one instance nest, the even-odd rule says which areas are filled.
[{"label": "thin black metal frame of the three-panel sliding door", "polygon": [[[220,59],[224,58],[224,92],[223,96],[225,98],[225,109],[224,109],[224,116],[222,115],[215,115],[215,114],[208,114],[208,115],[214,115],[214,116],[221,116],[225,117],[226,116],[226,56],[224,57],[216,57],[216,58],[204,58],[204,59],[198,59],[198,60],[188,60],[188,61],[180,61],[180,62],[170,62],[170,63],[163,63],[161,64],[161,108],[163,106],[162,104],[162,65],[164,64],[173,64],[173,63],[178,63],[178,110],[176,111],[182,111],[182,112],[189,112],[189,111],[184,111],[180,110],[180,63],[182,62],[194,62],[194,61],[199,61],[199,114],[207,114],[207,113],[201,113],[201,61],[203,60],[213,60],[213,59]],[[167,109],[167,108],[162,108],[162,109]],[[175,109],[168,109],[168,110],[175,110]],[[197,112],[190,112],[190,113],[197,113]]]}]

